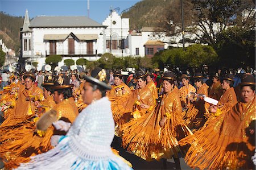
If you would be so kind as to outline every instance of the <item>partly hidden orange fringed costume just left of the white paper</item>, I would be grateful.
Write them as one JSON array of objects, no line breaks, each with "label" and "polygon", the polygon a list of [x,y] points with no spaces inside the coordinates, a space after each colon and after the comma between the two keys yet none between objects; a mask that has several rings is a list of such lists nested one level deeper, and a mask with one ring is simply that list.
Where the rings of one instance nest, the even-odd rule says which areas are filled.
[{"label": "partly hidden orange fringed costume just left of the white paper", "polygon": [[[196,93],[204,94],[205,96],[208,96],[208,88],[209,86],[204,83],[203,85],[200,86],[200,88],[197,88]],[[187,113],[185,115],[187,125],[189,123],[194,123],[192,126],[195,126],[196,129],[202,127],[205,123],[204,113],[205,113],[204,100],[199,99],[193,102],[193,104],[189,106]]]}]

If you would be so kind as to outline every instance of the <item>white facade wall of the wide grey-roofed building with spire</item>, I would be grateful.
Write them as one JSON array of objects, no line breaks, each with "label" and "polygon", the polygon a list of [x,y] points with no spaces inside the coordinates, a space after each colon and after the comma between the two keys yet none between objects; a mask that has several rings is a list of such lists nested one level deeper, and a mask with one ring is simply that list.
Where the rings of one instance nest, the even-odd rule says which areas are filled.
[{"label": "white facade wall of the wide grey-roofed building with spire", "polygon": [[[38,61],[38,68],[42,68],[45,65],[45,56],[46,51],[49,55],[49,43],[44,43],[44,35],[46,34],[97,34],[98,39],[96,43],[93,43],[93,50],[97,50],[97,53],[105,53],[106,43],[104,42],[104,31],[105,28],[33,28],[31,35],[31,51],[23,51],[23,57],[31,57],[28,61]],[[102,35],[100,35],[102,33]],[[23,34],[23,39],[28,38],[28,33],[26,36]],[[23,43],[24,41],[22,41]],[[23,46],[24,47],[24,46]],[[77,43],[75,41],[75,50],[78,49],[85,49],[86,50],[86,43]],[[56,51],[67,51],[68,54],[68,40],[66,39],[64,42],[56,43]],[[36,54],[40,54],[36,56]],[[98,57],[86,57],[89,60],[96,60]],[[75,57],[72,58],[76,61]],[[79,58],[78,58],[79,59]],[[60,63],[62,64],[62,63]],[[62,65],[59,65],[60,67]]]}]

